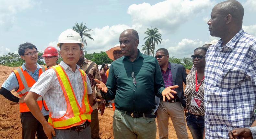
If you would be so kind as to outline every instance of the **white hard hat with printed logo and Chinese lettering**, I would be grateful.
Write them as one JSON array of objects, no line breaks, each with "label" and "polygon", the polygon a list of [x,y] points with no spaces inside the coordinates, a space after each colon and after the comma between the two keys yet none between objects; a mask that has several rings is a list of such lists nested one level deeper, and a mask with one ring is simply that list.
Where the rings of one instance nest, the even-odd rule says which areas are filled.
[{"label": "white hard hat with printed logo and Chinese lettering", "polygon": [[81,36],[73,29],[67,29],[61,33],[57,46],[60,47],[61,43],[79,43],[84,47]]}]

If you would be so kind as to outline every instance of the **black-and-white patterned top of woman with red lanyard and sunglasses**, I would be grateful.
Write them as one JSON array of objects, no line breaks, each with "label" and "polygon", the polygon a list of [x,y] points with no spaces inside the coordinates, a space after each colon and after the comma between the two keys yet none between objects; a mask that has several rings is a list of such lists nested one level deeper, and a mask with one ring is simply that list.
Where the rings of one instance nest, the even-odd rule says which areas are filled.
[{"label": "black-and-white patterned top of woman with red lanyard and sunglasses", "polygon": [[[197,80],[197,85],[199,85]],[[195,70],[190,72],[186,78],[186,88],[184,90],[184,96],[186,97],[186,107],[188,112],[194,115],[204,115],[204,80],[201,81],[200,86],[198,87],[198,93],[195,95]],[[191,98],[201,99],[202,102],[200,107],[196,107],[191,104]]]}]

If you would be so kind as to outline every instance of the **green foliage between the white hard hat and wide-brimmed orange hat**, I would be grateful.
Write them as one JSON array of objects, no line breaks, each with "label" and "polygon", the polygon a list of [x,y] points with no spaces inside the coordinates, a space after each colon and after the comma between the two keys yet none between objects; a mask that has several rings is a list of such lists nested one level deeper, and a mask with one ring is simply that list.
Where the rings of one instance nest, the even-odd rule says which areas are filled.
[{"label": "green foliage between the white hard hat and wide-brimmed orange hat", "polygon": [[103,63],[111,64],[111,60],[106,52],[101,51],[100,53],[85,54],[84,57],[88,60],[94,61],[97,65],[102,65]]}]

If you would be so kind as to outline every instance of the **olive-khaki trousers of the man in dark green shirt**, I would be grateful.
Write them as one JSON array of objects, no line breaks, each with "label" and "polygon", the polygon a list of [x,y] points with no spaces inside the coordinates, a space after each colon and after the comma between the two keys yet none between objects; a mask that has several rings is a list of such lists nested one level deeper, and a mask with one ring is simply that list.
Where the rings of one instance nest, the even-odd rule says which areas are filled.
[{"label": "olive-khaki trousers of the man in dark green shirt", "polygon": [[[152,114],[154,114],[152,112]],[[113,115],[113,133],[115,139],[156,139],[155,118],[133,118],[126,112],[115,109]]]}]

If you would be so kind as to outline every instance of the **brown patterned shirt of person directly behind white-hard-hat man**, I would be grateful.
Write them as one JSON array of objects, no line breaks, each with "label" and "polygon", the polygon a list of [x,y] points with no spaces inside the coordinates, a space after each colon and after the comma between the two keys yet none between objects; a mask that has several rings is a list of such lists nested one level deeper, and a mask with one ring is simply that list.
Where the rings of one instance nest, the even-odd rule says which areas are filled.
[{"label": "brown patterned shirt of person directly behind white-hard-hat man", "polygon": [[[80,65],[80,69],[86,71],[89,68],[89,66],[91,65],[91,63],[92,63],[92,61],[87,60],[86,58],[84,58],[84,62]],[[93,66],[89,70],[87,76],[88,76],[88,78],[90,79],[90,82],[91,82],[91,89],[92,89],[93,98],[96,99],[94,79],[98,79],[98,80],[101,81],[101,77],[100,77],[100,74],[99,74],[99,69],[98,69],[98,66],[97,66],[96,63],[93,64]],[[98,87],[97,87],[97,95],[98,95],[99,98],[102,97]],[[95,110],[97,108],[98,108],[98,103],[95,103],[92,106],[92,109]]]}]

